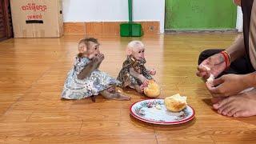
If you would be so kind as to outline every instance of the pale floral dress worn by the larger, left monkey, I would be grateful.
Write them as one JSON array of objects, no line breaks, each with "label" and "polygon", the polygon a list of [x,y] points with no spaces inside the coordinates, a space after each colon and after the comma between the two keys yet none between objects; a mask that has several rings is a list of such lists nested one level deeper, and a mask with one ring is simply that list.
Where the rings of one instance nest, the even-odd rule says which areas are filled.
[{"label": "pale floral dress worn by the larger, left monkey", "polygon": [[78,74],[91,60],[89,58],[76,58],[74,68],[67,74],[66,82],[62,91],[62,98],[81,99],[98,95],[110,85],[118,86],[120,82],[108,74],[94,70],[88,77],[78,79]]}]

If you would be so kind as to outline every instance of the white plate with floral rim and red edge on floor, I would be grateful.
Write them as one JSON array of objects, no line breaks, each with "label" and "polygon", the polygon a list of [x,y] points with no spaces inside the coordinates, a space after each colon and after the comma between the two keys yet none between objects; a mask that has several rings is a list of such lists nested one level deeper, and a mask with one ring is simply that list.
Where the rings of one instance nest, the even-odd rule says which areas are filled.
[{"label": "white plate with floral rim and red edge on floor", "polygon": [[134,102],[130,106],[130,114],[143,122],[160,125],[175,125],[189,122],[194,118],[194,109],[191,106],[174,113],[166,109],[164,99],[146,99]]}]

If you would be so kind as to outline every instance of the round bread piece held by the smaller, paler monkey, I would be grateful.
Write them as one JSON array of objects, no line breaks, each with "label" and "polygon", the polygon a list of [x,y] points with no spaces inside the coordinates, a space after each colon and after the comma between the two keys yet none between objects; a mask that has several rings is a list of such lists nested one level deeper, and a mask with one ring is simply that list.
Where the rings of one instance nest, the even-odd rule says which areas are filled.
[{"label": "round bread piece held by the smaller, paler monkey", "polygon": [[150,80],[148,86],[144,88],[144,94],[150,98],[157,98],[160,95],[160,87],[154,80]]}]

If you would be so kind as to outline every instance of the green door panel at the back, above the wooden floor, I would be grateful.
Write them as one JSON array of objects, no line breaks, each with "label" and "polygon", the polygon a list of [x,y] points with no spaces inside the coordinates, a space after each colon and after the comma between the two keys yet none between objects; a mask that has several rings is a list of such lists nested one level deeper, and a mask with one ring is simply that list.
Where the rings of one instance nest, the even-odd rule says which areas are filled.
[{"label": "green door panel at the back, above the wooden floor", "polygon": [[232,0],[166,0],[166,30],[234,29]]}]

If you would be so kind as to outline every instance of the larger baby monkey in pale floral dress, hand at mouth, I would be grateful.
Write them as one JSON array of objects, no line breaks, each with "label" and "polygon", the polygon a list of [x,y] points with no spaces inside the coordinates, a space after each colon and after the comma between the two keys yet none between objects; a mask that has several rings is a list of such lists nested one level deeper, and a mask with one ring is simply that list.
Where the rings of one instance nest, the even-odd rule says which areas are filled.
[{"label": "larger baby monkey in pale floral dress, hand at mouth", "polygon": [[116,90],[116,86],[120,85],[116,78],[98,70],[104,59],[104,54],[98,47],[99,43],[95,38],[84,38],[78,43],[79,53],[73,68],[67,74],[62,98],[90,97],[95,102],[95,96],[102,94],[107,99],[130,100]]}]

